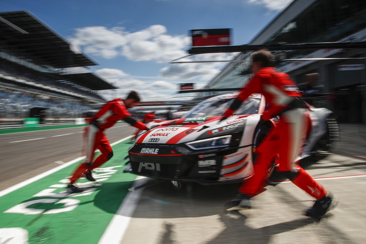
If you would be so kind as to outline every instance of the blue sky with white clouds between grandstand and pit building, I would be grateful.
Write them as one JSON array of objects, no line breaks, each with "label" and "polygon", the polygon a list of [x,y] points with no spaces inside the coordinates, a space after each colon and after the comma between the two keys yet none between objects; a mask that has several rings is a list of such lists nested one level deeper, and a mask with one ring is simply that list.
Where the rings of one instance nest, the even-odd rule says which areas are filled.
[{"label": "blue sky with white clouds between grandstand and pit building", "polygon": [[[232,28],[234,45],[246,44],[292,0],[2,0],[0,11],[27,10],[99,63],[89,67],[143,100],[173,98],[178,83],[204,86],[220,63],[175,64],[186,55],[190,29]],[[226,54],[200,55],[197,60],[227,59]],[[74,70],[78,72],[78,70]]]}]

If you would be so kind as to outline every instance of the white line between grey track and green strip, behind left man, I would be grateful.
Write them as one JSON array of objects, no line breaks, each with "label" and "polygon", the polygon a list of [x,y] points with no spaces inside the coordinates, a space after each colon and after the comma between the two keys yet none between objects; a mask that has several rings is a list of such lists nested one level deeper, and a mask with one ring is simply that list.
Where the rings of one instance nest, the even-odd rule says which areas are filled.
[{"label": "white line between grey track and green strip, behind left man", "polygon": [[[116,145],[118,143],[121,143],[121,142],[127,140],[127,139],[130,139],[131,137],[132,136],[127,136],[127,137],[125,137],[125,138],[123,138],[121,140],[118,140],[116,142],[113,142],[113,143],[111,143],[111,146],[114,146],[114,145]],[[9,188],[7,188],[7,189],[5,189],[3,191],[0,191],[0,197],[4,196],[4,195],[6,195],[6,194],[8,194],[10,192],[13,192],[13,191],[15,191],[15,190],[17,190],[19,188],[25,187],[26,185],[29,185],[30,183],[33,183],[34,181],[40,180],[43,177],[46,177],[46,176],[48,176],[48,175],[50,175],[52,173],[55,173],[55,172],[59,171],[60,169],[66,168],[69,165],[75,164],[76,162],[79,162],[80,160],[82,160],[84,158],[86,158],[86,157],[85,156],[82,156],[82,157],[75,158],[75,159],[73,159],[73,160],[71,160],[71,161],[69,161],[69,162],[67,162],[67,163],[65,163],[63,165],[57,166],[56,168],[50,169],[50,170],[48,170],[48,171],[46,171],[44,173],[38,174],[37,176],[34,176],[34,177],[32,177],[32,178],[30,178],[28,180],[25,180],[23,182],[20,182],[19,184],[13,185],[12,187],[9,187]]]}]

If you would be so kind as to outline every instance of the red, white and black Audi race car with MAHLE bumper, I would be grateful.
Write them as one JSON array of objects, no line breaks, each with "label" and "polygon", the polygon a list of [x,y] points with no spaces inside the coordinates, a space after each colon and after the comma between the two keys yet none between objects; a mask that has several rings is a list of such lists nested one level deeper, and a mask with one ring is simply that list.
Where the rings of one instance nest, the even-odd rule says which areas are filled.
[{"label": "red, white and black Audi race car with MAHLE bumper", "polygon": [[[153,127],[137,135],[129,149],[130,172],[171,180],[175,189],[182,182],[201,184],[240,182],[253,175],[255,150],[275,127],[278,117],[260,120],[266,110],[261,94],[252,94],[235,114],[220,121],[238,93],[209,98],[197,104],[181,119],[149,123]],[[316,150],[329,150],[338,133],[337,120],[325,108],[311,110],[312,131],[303,157]],[[268,177],[276,159],[268,164]]]}]

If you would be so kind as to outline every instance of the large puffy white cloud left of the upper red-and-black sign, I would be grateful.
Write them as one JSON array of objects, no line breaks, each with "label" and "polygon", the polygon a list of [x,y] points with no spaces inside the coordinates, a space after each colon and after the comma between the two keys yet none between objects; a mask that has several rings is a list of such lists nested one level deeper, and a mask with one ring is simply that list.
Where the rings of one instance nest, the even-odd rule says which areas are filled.
[{"label": "large puffy white cloud left of the upper red-and-black sign", "polygon": [[69,40],[74,49],[112,59],[124,56],[133,61],[164,63],[186,55],[190,38],[168,35],[163,25],[152,25],[144,30],[128,32],[123,27],[104,26],[78,28]]}]

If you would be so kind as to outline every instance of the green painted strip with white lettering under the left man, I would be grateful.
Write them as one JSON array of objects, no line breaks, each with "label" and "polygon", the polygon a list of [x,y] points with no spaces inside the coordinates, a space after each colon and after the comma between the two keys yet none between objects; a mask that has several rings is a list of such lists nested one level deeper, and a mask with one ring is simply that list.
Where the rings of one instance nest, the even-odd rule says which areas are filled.
[{"label": "green painted strip with white lettering under the left man", "polygon": [[0,243],[97,244],[136,178],[123,173],[131,145],[113,146],[114,157],[94,172],[99,183],[77,182],[82,193],[64,192],[76,163],[0,197]]}]

